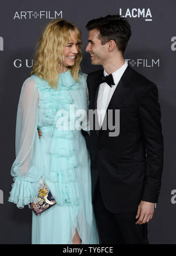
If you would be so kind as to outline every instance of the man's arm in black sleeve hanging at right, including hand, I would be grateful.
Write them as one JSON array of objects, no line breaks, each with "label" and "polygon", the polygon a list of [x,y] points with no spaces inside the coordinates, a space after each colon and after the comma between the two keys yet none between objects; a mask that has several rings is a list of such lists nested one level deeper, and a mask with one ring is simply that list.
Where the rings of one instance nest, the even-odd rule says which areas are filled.
[{"label": "man's arm in black sleeve hanging at right, including hand", "polygon": [[139,104],[139,117],[146,148],[146,168],[144,191],[136,224],[148,222],[154,213],[154,203],[158,202],[163,172],[163,135],[158,90],[154,84],[145,88]]}]

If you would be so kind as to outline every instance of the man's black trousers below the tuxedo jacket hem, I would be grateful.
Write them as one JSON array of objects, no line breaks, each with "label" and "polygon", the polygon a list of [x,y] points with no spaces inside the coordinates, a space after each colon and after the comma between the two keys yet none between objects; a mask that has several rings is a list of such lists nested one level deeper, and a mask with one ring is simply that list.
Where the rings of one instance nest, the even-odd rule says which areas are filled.
[{"label": "man's black trousers below the tuxedo jacket hem", "polygon": [[114,214],[106,209],[99,180],[94,192],[93,207],[100,244],[148,244],[147,224],[135,224],[137,211]]}]

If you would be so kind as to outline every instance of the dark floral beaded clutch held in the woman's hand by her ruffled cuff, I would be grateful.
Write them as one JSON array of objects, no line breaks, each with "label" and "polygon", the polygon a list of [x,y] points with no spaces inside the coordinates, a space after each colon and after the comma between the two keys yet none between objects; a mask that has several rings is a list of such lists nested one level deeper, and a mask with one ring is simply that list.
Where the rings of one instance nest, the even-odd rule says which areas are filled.
[{"label": "dark floral beaded clutch held in the woman's hand by her ruffled cuff", "polygon": [[31,202],[30,207],[35,215],[39,215],[55,204],[55,198],[53,198],[46,183],[43,182],[43,187],[38,192],[38,202]]}]

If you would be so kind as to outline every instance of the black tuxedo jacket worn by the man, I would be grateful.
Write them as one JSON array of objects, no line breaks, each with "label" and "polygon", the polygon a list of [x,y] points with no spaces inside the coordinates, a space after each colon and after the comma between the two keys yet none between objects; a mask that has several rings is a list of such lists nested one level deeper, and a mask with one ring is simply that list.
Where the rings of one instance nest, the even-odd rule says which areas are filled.
[{"label": "black tuxedo jacket worn by the man", "polygon": [[[103,70],[87,76],[92,111],[97,109],[101,77]],[[111,98],[107,118],[108,109],[113,109],[113,118],[114,110],[120,109],[120,134],[110,137],[108,127],[90,131],[92,194],[99,178],[109,211],[136,211],[141,200],[157,202],[160,193],[163,135],[157,87],[128,66]]]}]

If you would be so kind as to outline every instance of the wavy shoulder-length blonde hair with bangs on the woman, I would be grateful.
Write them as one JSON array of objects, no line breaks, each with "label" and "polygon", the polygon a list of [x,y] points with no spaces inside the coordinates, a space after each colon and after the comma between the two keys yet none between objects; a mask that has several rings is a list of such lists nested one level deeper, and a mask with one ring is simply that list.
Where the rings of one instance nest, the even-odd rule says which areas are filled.
[{"label": "wavy shoulder-length blonde hair with bangs on the woman", "polygon": [[42,32],[36,47],[31,75],[36,74],[46,79],[50,86],[56,88],[59,78],[59,66],[63,65],[63,47],[70,42],[70,31],[75,31],[80,42],[75,65],[70,66],[70,72],[75,81],[79,79],[80,62],[82,60],[81,32],[77,26],[65,19],[55,19]]}]

